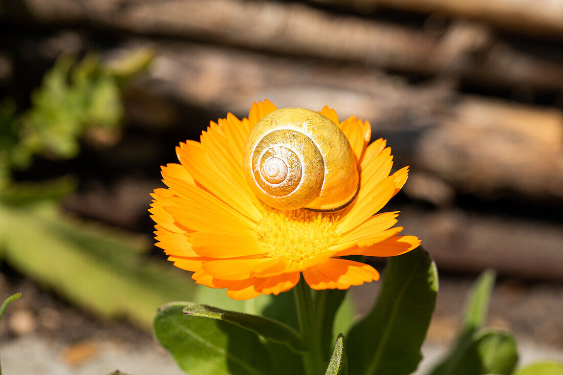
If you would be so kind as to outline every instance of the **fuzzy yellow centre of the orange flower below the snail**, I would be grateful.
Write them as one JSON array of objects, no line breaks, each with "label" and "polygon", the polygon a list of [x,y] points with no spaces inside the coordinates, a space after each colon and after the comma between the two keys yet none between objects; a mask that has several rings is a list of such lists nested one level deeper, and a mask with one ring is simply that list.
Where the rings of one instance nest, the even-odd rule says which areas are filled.
[{"label": "fuzzy yellow centre of the orange flower below the snail", "polygon": [[305,209],[272,209],[258,223],[258,236],[266,244],[266,256],[296,263],[327,251],[339,238],[332,215]]}]

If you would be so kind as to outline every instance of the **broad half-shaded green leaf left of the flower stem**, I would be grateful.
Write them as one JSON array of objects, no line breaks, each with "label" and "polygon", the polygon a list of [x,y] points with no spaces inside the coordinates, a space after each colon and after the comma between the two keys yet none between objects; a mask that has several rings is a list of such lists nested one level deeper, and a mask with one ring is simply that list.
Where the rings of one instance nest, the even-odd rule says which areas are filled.
[{"label": "broad half-shaded green leaf left of the flower stem", "polygon": [[271,359],[258,336],[216,319],[186,316],[190,303],[162,306],[153,320],[154,337],[190,375],[270,375]]}]

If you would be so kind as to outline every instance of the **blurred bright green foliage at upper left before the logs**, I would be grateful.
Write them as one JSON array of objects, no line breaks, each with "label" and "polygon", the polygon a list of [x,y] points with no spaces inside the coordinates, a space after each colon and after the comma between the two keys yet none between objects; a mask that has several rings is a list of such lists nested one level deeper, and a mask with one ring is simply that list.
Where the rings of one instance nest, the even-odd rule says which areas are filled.
[{"label": "blurred bright green foliage at upper left before the logs", "polygon": [[78,62],[62,55],[32,93],[29,110],[16,114],[13,101],[0,102],[0,181],[12,168],[28,168],[33,155],[73,158],[84,133],[115,131],[123,117],[121,91],[153,56],[141,49],[106,66],[95,54]]}]

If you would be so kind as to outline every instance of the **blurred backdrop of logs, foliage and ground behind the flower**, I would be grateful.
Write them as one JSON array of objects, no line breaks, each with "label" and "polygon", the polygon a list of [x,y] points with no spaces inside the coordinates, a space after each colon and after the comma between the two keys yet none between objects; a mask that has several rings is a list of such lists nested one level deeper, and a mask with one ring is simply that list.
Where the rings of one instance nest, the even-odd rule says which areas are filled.
[{"label": "blurred backdrop of logs, foliage and ground behind the flower", "polygon": [[439,269],[430,360],[489,267],[489,324],[562,360],[562,89],[561,1],[0,0],[5,372],[180,373],[149,322],[202,292],[154,247],[149,193],[263,99],[367,119],[410,165],[387,208]]}]

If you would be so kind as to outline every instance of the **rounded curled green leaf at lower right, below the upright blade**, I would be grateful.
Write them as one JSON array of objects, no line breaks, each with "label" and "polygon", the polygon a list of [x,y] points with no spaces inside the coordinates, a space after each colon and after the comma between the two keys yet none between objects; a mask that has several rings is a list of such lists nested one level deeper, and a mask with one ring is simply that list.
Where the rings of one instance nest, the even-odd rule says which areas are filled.
[{"label": "rounded curled green leaf at lower right, below the upright blade", "polygon": [[473,334],[443,368],[445,375],[510,375],[518,362],[512,334],[482,329]]}]

